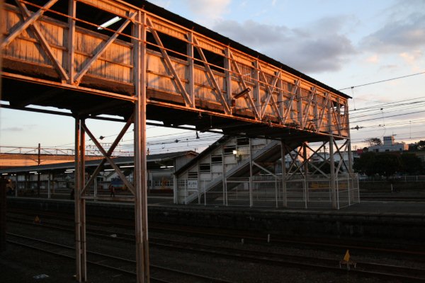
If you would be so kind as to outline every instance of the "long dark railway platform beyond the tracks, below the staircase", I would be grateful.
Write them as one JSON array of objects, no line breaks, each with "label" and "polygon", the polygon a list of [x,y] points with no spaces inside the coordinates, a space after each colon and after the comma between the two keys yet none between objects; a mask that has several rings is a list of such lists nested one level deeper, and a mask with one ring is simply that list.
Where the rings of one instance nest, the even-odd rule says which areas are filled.
[{"label": "long dark railway platform beyond the tracks, below the staircase", "polygon": [[[365,201],[345,209],[270,209],[173,204],[148,197],[151,223],[251,231],[267,237],[310,237],[418,243],[425,236],[425,202]],[[134,219],[134,205],[87,202],[87,216]],[[72,200],[8,198],[8,209],[74,212]]]}]

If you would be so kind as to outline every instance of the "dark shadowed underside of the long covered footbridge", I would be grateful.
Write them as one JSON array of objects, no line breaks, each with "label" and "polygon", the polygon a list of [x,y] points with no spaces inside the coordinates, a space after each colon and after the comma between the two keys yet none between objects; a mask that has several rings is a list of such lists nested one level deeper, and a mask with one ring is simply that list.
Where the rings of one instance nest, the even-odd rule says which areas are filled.
[{"label": "dark shadowed underside of the long covered footbridge", "polygon": [[[14,66],[21,67],[21,65],[21,62],[9,60],[9,63],[4,66],[2,100],[9,102],[9,105],[2,105],[4,108],[51,112],[57,115],[120,122],[125,122],[132,115],[134,99],[116,98],[108,95],[113,91],[120,92],[124,88],[128,88],[127,91],[129,91],[128,86],[120,88],[116,83],[111,84],[100,79],[92,81],[88,85],[90,87],[88,89],[68,88],[60,83],[50,85],[45,83],[44,80],[37,81],[33,77],[13,74],[12,71],[15,73],[21,71],[21,69],[16,70]],[[47,70],[47,68],[38,68],[41,74],[46,74]],[[8,76],[8,74],[11,74],[11,76]],[[81,86],[84,86],[84,83],[81,83]],[[105,90],[107,93],[93,93],[93,88]],[[158,121],[159,125],[164,125],[164,127],[189,125],[200,132],[221,129],[223,134],[246,137],[310,142],[327,139],[327,135],[300,129],[297,125],[282,127],[281,125],[252,120],[248,115],[246,117],[243,115],[229,116],[220,112],[205,111],[201,108],[186,108],[181,101],[174,101],[171,104],[170,101],[172,102],[172,100],[169,100],[169,96],[171,96],[169,93],[147,89],[147,120]],[[198,104],[205,106],[208,103],[198,101]],[[57,108],[57,112],[34,108],[33,105]],[[199,105],[196,106],[199,107]],[[213,106],[210,105],[209,108]]]}]

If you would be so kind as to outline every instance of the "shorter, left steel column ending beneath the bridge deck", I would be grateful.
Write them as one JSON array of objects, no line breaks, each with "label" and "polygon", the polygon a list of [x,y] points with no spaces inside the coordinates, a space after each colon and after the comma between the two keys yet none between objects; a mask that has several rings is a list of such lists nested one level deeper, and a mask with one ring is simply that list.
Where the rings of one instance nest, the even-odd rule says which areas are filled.
[{"label": "shorter, left steel column ending beneath the bridge deck", "polygon": [[77,281],[87,281],[86,269],[86,201],[81,198],[81,190],[84,187],[84,159],[85,159],[85,132],[82,120],[75,119],[75,179],[74,179],[74,202],[75,202],[75,253],[77,263]]}]

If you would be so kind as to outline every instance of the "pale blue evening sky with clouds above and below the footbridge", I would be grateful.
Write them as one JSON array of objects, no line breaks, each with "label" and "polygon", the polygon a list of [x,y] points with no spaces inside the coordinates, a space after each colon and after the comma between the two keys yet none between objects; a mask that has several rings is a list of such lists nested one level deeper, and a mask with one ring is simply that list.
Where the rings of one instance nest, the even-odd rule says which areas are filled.
[{"label": "pale blue evening sky with clouds above and below the footbridge", "polygon": [[[425,139],[424,0],[152,0],[184,18],[266,54],[341,90],[349,101],[351,144],[395,135]],[[396,79],[398,78],[398,79]],[[74,120],[0,109],[0,151],[13,147],[69,148]],[[121,123],[88,121],[97,137],[113,142]],[[217,135],[147,127],[151,154],[196,149]],[[88,142],[90,144],[90,142]],[[132,132],[120,147],[127,151]],[[12,146],[11,148],[4,146]],[[24,149],[21,149],[24,150]],[[28,149],[29,151],[30,149]]]}]

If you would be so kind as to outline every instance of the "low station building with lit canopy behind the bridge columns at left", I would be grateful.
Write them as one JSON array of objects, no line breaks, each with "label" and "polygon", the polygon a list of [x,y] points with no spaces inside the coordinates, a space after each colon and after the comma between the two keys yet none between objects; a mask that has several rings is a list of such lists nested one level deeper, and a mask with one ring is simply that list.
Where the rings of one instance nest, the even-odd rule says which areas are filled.
[{"label": "low station building with lit canopy behind the bridge columns at left", "polygon": [[[166,154],[152,154],[147,156],[147,188],[150,192],[172,192],[174,171],[195,158],[195,151],[178,151]],[[113,158],[115,164],[123,171],[126,178],[133,182],[134,158],[123,156]],[[101,163],[101,159],[86,161],[86,178]],[[0,169],[4,178],[11,180],[9,195],[43,197],[61,197],[74,188],[74,162],[50,163],[40,166],[18,166]],[[109,163],[105,163],[103,171],[97,176],[91,192],[108,193],[108,186],[112,184],[117,191],[125,190],[123,182]],[[55,196],[55,193],[59,194]],[[63,196],[62,196],[63,197]]]}]

